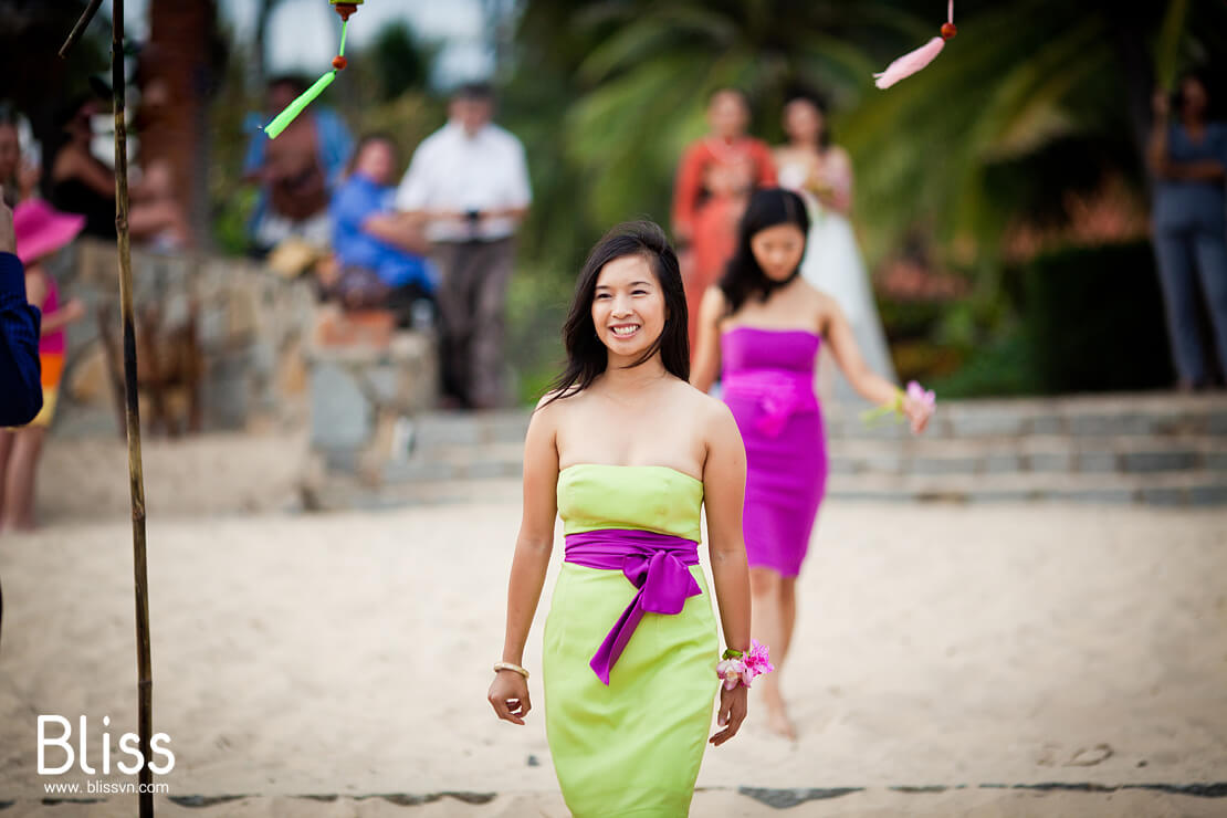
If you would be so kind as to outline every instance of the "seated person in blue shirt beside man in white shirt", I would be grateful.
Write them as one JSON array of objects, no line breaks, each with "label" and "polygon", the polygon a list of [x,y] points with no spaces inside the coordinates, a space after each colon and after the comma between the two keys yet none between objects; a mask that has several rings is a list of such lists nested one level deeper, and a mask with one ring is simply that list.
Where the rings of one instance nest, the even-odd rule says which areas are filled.
[{"label": "seated person in blue shirt beside man in white shirt", "polygon": [[413,314],[433,314],[429,243],[418,221],[395,211],[396,145],[369,134],[353,151],[350,175],[329,206],[339,276],[328,287],[345,307],[378,307],[411,326]]}]

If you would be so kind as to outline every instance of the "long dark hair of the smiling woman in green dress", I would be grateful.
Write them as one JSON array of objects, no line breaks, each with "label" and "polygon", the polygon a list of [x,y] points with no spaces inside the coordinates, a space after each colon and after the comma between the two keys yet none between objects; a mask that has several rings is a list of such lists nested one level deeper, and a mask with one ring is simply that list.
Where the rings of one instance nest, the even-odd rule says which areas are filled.
[{"label": "long dark hair of the smiling woman in green dress", "polygon": [[638,367],[647,363],[659,351],[666,372],[682,380],[690,380],[686,292],[682,288],[681,270],[677,267],[677,255],[669,245],[665,232],[654,222],[626,222],[611,229],[596,243],[579,272],[571,313],[562,326],[567,365],[550,385],[553,397],[546,401],[546,405],[582,392],[605,372],[609,352],[596,335],[596,325],[593,324],[596,278],[606,264],[628,255],[647,259],[665,297],[665,329],[639,359],[629,365]]}]

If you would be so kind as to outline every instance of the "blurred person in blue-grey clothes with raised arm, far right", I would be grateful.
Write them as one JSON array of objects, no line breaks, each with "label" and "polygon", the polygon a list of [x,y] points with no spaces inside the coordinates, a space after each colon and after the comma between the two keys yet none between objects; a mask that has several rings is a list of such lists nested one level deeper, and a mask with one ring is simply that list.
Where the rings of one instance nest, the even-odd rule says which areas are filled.
[{"label": "blurred person in blue-grey clothes with raised arm, far right", "polygon": [[[1227,381],[1227,125],[1212,121],[1206,76],[1180,77],[1169,105],[1155,93],[1148,156],[1156,177],[1152,216],[1172,357],[1183,391]],[[1175,108],[1175,121],[1169,110]],[[1198,292],[1205,296],[1218,372],[1210,370],[1198,320]]]}]

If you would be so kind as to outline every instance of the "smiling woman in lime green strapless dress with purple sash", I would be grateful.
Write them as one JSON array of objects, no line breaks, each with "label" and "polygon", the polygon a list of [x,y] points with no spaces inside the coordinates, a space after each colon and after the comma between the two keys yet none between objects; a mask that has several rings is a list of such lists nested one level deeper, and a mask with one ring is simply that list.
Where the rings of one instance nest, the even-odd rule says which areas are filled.
[{"label": "smiling woman in lime green strapless dress with purple sash", "polygon": [[568,364],[524,443],[524,515],[488,698],[513,724],[531,709],[520,665],[561,516],[545,721],[577,817],[687,814],[707,741],[723,744],[746,716],[745,686],[715,673],[697,556],[706,505],[725,657],[750,650],[746,456],[728,407],[687,383],[686,329],[677,258],[660,228],[611,231],[579,275],[563,329]]}]

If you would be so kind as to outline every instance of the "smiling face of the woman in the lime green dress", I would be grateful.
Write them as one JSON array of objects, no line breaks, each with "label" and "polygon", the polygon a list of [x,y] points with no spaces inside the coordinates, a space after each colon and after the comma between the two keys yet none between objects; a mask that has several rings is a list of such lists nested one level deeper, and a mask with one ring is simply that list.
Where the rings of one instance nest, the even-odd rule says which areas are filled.
[{"label": "smiling face of the woman in the lime green dress", "polygon": [[665,329],[665,296],[642,255],[614,259],[596,276],[593,324],[596,337],[618,357],[637,358]]}]

